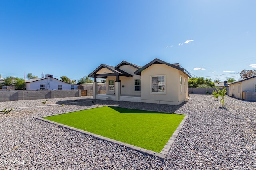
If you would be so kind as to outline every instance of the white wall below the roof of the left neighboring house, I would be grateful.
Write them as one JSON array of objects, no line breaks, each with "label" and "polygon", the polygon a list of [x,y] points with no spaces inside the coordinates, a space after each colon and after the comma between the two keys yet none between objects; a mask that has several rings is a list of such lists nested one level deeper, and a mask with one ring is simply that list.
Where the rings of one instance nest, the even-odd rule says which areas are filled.
[{"label": "white wall below the roof of the left neighboring house", "polygon": [[[52,81],[50,81],[52,79]],[[74,89],[77,89],[77,84],[68,84],[62,81],[58,81],[54,78],[46,78],[42,80],[38,80],[35,82],[26,83],[26,90],[38,90],[40,89],[40,85],[43,84],[45,89],[56,89],[58,90],[58,85],[62,85],[62,90],[70,90],[71,85],[74,85]]]}]

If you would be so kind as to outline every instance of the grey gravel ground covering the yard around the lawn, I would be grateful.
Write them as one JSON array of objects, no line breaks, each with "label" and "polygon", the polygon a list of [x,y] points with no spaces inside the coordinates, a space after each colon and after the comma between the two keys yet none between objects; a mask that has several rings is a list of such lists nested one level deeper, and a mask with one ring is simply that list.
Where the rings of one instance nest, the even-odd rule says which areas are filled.
[{"label": "grey gravel ground covering the yard around the lawn", "polygon": [[[75,99],[78,99],[74,102]],[[0,102],[0,169],[256,169],[256,102],[190,95],[180,106],[79,98]],[[64,104],[62,106],[62,104]],[[162,162],[70,129],[37,120],[59,113],[117,106],[189,117]],[[30,107],[19,109],[19,107]]]}]

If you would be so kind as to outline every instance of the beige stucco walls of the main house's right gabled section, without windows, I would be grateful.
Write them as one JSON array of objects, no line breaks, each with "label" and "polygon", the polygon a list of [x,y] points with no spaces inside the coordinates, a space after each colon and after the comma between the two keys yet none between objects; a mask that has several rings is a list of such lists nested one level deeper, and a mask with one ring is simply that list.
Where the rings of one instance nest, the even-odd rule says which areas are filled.
[{"label": "beige stucco walls of the main house's right gabled section, without windows", "polygon": [[[165,76],[165,92],[153,94],[151,92],[152,76]],[[180,93],[180,76],[182,76],[182,93]],[[165,64],[153,64],[141,72],[141,102],[158,104],[181,104],[188,98],[188,83],[184,94],[184,78],[188,76],[183,72]]]}]

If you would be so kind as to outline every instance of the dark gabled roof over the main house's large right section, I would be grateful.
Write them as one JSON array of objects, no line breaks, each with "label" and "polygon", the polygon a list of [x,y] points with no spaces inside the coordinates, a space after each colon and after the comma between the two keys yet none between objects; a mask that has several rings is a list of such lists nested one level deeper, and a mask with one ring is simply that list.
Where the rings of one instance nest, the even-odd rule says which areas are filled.
[{"label": "dark gabled roof over the main house's large right section", "polygon": [[160,60],[160,59],[154,59],[154,60],[152,60],[150,63],[146,64],[145,66],[143,66],[142,68],[140,68],[139,70],[137,70],[136,72],[134,72],[134,74],[140,75],[143,70],[145,70],[146,68],[148,68],[149,66],[151,66],[151,65],[153,65],[153,64],[166,64],[167,66],[170,66],[170,67],[172,67],[172,68],[176,68],[176,69],[178,69],[178,70],[184,72],[188,77],[192,78],[192,76],[190,75],[190,73],[189,73],[186,69],[180,67],[180,64],[179,64],[179,63],[170,64],[170,63],[167,63],[167,62],[162,61],[162,60]]}]

